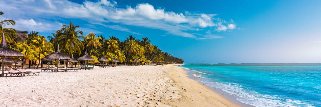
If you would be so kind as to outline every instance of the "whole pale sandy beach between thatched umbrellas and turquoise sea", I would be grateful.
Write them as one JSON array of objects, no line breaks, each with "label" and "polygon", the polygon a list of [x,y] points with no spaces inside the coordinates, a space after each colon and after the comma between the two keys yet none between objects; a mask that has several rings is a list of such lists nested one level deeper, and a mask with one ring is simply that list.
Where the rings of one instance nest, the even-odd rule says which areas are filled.
[{"label": "whole pale sandy beach between thatched umbrellas and turquoise sea", "polygon": [[1,77],[0,106],[238,106],[185,73],[172,65],[117,66]]}]

